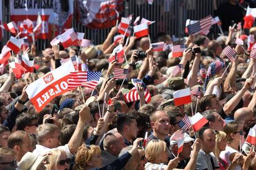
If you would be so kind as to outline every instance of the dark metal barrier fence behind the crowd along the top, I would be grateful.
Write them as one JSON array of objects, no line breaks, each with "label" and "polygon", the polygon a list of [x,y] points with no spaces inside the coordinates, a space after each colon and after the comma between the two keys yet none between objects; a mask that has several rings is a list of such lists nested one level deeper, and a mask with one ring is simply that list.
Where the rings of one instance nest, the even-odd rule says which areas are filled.
[{"label": "dark metal barrier fence behind the crowd along the top", "polygon": [[[74,0],[75,1],[75,0]],[[176,37],[185,36],[185,24],[187,18],[200,20],[207,15],[213,15],[213,1],[215,0],[155,0],[152,5],[140,3],[140,0],[125,0],[123,16],[134,14],[134,18],[141,16],[151,21],[156,21],[149,26],[151,38],[160,33],[174,34]],[[217,5],[228,0],[216,0]],[[9,22],[9,1],[3,0],[3,22]],[[75,8],[75,6],[74,6]],[[75,14],[75,9],[74,9]],[[85,33],[85,38],[91,39],[93,44],[101,44],[106,39],[110,28],[102,30],[91,30],[81,25],[77,19],[73,19],[73,27]],[[217,26],[213,26],[215,33],[218,33]],[[4,38],[1,44],[5,44],[10,34],[4,31]],[[49,46],[47,40],[37,41],[37,49],[45,49]]]}]

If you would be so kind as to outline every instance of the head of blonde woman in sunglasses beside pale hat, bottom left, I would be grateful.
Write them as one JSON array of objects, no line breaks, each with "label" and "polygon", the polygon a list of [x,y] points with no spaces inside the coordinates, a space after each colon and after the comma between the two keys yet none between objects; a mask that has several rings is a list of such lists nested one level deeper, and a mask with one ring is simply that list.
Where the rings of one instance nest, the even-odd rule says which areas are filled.
[{"label": "head of blonde woman in sunglasses beside pale hat, bottom left", "polygon": [[46,165],[47,170],[68,170],[71,158],[67,158],[64,150],[54,149],[48,155],[49,164]]}]

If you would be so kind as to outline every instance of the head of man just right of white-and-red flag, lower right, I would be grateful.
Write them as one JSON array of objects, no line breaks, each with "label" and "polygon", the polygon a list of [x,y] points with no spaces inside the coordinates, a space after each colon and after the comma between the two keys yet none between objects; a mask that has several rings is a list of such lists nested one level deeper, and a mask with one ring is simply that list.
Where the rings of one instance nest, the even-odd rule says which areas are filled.
[{"label": "head of man just right of white-and-red flag, lower right", "polygon": [[223,131],[224,120],[215,110],[205,110],[202,115],[208,120],[205,126],[217,131]]}]

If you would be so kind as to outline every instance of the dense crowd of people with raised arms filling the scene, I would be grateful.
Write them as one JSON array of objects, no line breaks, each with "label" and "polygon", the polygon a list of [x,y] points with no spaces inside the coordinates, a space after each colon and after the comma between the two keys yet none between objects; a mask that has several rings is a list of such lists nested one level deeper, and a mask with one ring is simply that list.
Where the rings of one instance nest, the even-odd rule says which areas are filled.
[{"label": "dense crowd of people with raised arms filling the scene", "polygon": [[[126,44],[126,39],[113,42],[114,26],[103,44],[90,47],[54,45],[38,51],[33,44],[28,56],[40,66],[33,76],[16,79],[9,67],[0,76],[0,169],[255,169],[255,146],[245,140],[256,124],[256,59],[250,57],[249,36],[240,29],[229,26],[228,36],[216,39],[130,36]],[[256,28],[250,34],[254,43]],[[164,42],[166,48],[155,52],[151,42]],[[127,62],[109,62],[119,44]],[[171,47],[179,44],[186,50],[173,57]],[[223,54],[226,46],[236,51],[233,61]],[[82,67],[101,71],[96,88],[68,91],[36,111],[28,84],[74,55]],[[113,78],[114,68],[127,68],[127,78]],[[134,78],[147,86],[150,102],[142,86],[137,87],[139,100],[124,99]],[[200,95],[175,105],[173,93],[188,87]],[[190,125],[180,152],[173,136],[184,117],[195,113],[208,122],[197,131]]]}]

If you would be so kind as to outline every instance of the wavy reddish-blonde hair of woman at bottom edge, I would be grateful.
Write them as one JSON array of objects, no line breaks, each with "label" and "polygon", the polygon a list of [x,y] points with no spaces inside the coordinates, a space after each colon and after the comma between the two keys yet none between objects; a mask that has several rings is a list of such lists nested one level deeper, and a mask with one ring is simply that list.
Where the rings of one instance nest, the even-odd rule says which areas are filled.
[{"label": "wavy reddish-blonde hair of woman at bottom edge", "polygon": [[74,170],[87,169],[87,162],[90,161],[93,155],[100,155],[100,147],[96,145],[85,145],[79,147],[75,156]]}]

